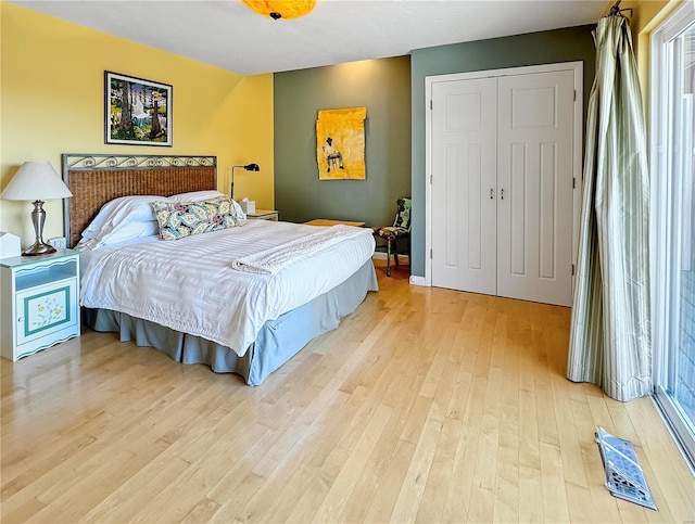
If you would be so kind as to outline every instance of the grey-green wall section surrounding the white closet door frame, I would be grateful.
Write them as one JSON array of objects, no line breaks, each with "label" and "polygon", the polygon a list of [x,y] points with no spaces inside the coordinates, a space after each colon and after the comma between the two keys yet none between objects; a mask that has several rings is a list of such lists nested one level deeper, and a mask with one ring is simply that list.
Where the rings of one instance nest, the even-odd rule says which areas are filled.
[{"label": "grey-green wall section surrounding the white closet door frame", "polygon": [[513,37],[455,43],[413,51],[412,256],[410,273],[425,276],[425,78],[505,67],[584,62],[584,115],[594,79],[595,49],[591,31],[595,25],[556,29]]}]

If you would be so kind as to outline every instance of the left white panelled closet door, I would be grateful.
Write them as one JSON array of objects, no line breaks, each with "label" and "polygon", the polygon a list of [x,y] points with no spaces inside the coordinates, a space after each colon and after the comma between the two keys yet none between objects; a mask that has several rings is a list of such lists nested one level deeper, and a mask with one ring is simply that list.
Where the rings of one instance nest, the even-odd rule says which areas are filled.
[{"label": "left white panelled closet door", "polygon": [[432,86],[432,285],[496,292],[497,80]]}]

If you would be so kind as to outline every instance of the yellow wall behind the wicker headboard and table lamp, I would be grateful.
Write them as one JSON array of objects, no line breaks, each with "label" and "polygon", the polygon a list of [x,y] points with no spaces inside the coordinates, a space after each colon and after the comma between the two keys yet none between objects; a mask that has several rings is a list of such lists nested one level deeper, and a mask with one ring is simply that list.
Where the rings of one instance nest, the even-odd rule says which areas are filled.
[{"label": "yellow wall behind the wicker headboard and table lamp", "polygon": [[[273,75],[243,77],[116,38],[36,11],[0,2],[0,190],[25,161],[62,153],[216,155],[217,183],[274,208]],[[104,144],[104,71],[173,86],[173,146]],[[61,201],[46,204],[43,239],[63,234]],[[34,242],[28,202],[0,201],[0,230]]]}]

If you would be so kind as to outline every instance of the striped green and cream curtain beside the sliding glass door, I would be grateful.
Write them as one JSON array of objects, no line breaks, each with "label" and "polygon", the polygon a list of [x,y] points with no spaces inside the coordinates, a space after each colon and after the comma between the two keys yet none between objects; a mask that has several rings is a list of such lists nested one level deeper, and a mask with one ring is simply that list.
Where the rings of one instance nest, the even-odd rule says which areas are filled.
[{"label": "striped green and cream curtain beside the sliding glass door", "polygon": [[598,21],[567,376],[652,393],[646,132],[628,20]]}]

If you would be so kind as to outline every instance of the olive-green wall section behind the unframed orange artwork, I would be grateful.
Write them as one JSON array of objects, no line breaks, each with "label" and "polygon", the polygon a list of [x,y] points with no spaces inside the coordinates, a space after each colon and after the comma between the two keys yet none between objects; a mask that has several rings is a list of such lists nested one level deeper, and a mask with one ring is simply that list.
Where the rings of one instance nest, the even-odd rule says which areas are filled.
[{"label": "olive-green wall section behind the unframed orange artwork", "polygon": [[[409,56],[274,75],[275,206],[280,220],[391,223],[410,195]],[[366,107],[366,180],[318,180],[319,110]]]}]

